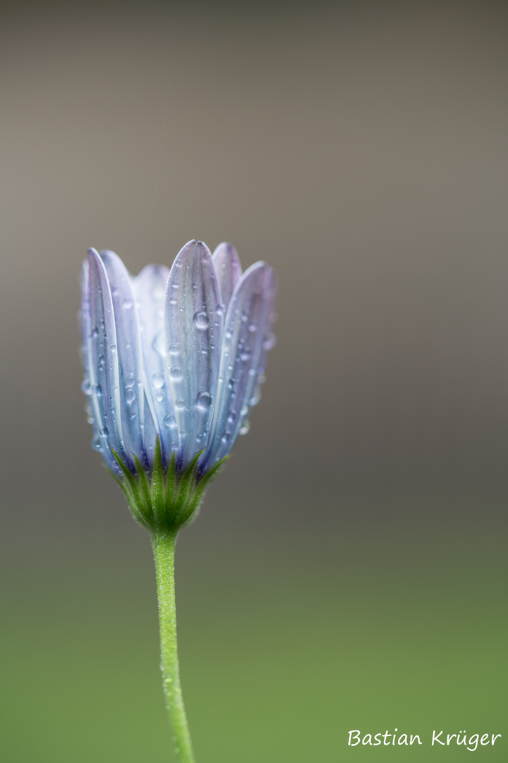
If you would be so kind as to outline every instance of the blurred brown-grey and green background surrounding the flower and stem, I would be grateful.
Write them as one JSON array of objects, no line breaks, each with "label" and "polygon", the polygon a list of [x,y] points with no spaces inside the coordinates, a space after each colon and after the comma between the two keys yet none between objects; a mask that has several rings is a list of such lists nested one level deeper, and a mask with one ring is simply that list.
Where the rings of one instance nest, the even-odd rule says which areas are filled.
[{"label": "blurred brown-grey and green background surrounding the flower and stem", "polygon": [[[149,538],[90,447],[88,246],[280,277],[177,549],[197,761],[506,760],[506,7],[2,4],[6,763],[171,761]],[[347,732],[420,734],[350,748]]]}]

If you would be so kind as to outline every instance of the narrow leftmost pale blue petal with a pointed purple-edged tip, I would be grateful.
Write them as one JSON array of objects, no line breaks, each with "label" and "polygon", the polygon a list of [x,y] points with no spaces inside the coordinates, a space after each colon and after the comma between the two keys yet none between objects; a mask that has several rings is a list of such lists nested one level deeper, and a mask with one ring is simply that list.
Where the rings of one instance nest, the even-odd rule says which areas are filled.
[{"label": "narrow leftmost pale blue petal with a pointed purple-edged tip", "polygon": [[88,311],[88,373],[91,407],[99,438],[96,447],[103,452],[107,462],[113,459],[111,449],[114,449],[129,468],[133,468],[122,431],[113,300],[104,262],[94,249],[88,250]]}]

